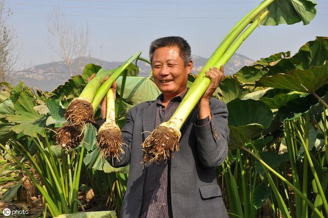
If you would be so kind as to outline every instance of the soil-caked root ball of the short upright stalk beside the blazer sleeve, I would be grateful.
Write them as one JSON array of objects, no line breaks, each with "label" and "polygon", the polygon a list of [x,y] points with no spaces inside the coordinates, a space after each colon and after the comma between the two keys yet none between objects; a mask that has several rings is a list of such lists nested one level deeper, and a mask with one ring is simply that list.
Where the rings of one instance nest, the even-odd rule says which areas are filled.
[{"label": "soil-caked root ball of the short upright stalk beside the blazer sleeve", "polygon": [[103,157],[120,160],[120,153],[124,154],[121,142],[121,132],[118,127],[100,130],[97,136],[98,146]]}]

